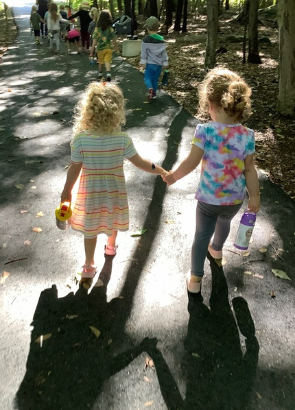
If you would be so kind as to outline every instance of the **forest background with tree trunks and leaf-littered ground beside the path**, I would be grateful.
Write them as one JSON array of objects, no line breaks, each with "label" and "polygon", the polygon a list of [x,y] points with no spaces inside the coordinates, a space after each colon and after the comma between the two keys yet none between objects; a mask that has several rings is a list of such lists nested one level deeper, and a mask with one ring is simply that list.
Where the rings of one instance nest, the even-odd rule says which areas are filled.
[{"label": "forest background with tree trunks and leaf-littered ground beside the path", "polygon": [[[56,3],[78,10],[81,1]],[[295,199],[295,0],[90,3],[99,10],[108,8],[114,19],[133,16],[139,38],[145,35],[145,19],[158,17],[169,54],[165,91],[196,117],[198,86],[208,69],[217,65],[242,75],[252,88],[252,116],[245,125],[255,130],[256,165]],[[11,10],[0,3],[0,58],[15,36]],[[142,70],[139,56],[128,62]]]}]

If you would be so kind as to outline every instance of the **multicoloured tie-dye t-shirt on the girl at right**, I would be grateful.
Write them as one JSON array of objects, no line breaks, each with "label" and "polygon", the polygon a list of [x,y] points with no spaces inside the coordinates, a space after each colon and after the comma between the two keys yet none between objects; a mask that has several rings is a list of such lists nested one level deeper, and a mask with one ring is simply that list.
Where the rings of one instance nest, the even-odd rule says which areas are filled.
[{"label": "multicoloured tie-dye t-shirt on the girl at right", "polygon": [[239,123],[198,124],[192,144],[204,151],[196,199],[212,205],[244,201],[244,160],[255,152],[254,131]]}]

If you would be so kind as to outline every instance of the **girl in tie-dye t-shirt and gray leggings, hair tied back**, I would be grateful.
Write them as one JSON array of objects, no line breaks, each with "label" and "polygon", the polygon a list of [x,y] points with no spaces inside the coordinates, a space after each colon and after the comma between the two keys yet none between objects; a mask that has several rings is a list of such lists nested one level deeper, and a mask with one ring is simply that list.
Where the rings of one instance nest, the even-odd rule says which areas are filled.
[{"label": "girl in tie-dye t-shirt and gray leggings, hair tied back", "polygon": [[189,156],[164,178],[168,185],[174,184],[202,160],[191,275],[187,278],[192,293],[200,292],[207,250],[215,261],[222,259],[231,220],[241,208],[246,189],[248,210],[257,213],[260,208],[254,131],[240,123],[250,115],[250,95],[251,89],[237,73],[220,68],[210,71],[200,88],[200,108],[209,112],[212,121],[197,125]]}]

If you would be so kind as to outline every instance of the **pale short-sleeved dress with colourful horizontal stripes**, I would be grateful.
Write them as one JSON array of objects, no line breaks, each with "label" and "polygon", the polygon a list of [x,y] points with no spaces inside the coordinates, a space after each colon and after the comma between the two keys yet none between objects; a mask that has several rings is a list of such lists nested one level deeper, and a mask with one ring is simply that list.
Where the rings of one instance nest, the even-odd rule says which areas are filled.
[{"label": "pale short-sleeved dress with colourful horizontal stripes", "polygon": [[132,139],[123,132],[93,135],[82,131],[74,136],[71,161],[82,162],[82,173],[71,226],[83,232],[85,238],[128,230],[123,160],[136,154]]}]

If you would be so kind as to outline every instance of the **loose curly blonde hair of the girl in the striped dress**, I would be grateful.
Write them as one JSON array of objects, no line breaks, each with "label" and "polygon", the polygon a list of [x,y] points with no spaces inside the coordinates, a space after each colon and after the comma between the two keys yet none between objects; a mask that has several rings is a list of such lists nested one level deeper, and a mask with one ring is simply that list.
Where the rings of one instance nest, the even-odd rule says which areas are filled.
[{"label": "loose curly blonde hair of the girl in the striped dress", "polygon": [[108,134],[125,123],[125,100],[115,84],[91,82],[75,107],[73,131],[92,130]]}]

